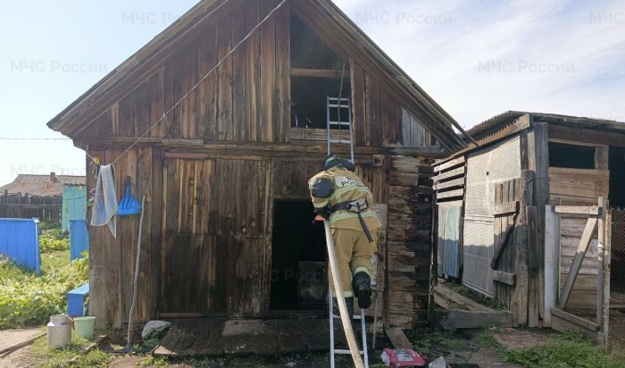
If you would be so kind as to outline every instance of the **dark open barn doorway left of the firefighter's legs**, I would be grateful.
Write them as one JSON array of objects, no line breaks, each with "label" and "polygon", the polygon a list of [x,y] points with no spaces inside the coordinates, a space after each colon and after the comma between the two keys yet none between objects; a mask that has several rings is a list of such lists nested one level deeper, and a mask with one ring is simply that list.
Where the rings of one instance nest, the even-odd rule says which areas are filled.
[{"label": "dark open barn doorway left of the firefighter's legs", "polygon": [[271,310],[322,310],[328,281],[325,233],[310,201],[276,201],[271,251]]}]

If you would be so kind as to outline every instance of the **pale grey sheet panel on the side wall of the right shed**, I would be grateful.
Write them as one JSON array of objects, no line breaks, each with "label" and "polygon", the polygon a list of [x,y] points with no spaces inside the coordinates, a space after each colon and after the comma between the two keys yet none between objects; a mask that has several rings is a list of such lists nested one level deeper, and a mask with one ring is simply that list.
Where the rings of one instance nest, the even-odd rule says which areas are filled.
[{"label": "pale grey sheet panel on the side wall of the right shed", "polygon": [[488,296],[493,284],[488,272],[494,247],[495,185],[521,177],[520,138],[469,155],[463,232],[462,282]]}]

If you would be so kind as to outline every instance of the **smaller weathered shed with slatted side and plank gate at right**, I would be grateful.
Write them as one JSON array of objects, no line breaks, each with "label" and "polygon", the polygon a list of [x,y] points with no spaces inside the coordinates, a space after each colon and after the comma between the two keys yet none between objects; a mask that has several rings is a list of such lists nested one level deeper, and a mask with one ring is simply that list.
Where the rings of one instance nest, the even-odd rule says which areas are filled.
[{"label": "smaller weathered shed with slatted side and plank gate at right", "polygon": [[602,257],[624,231],[606,216],[625,205],[625,123],[511,111],[468,134],[479,146],[435,166],[438,276],[500,300],[517,325],[549,325],[554,305],[598,318]]}]

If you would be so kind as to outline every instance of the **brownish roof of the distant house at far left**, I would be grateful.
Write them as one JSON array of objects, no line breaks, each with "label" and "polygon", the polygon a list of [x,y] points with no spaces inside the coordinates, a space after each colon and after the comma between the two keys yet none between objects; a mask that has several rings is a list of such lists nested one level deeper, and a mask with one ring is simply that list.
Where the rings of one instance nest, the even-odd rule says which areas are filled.
[{"label": "brownish roof of the distant house at far left", "polygon": [[31,175],[19,174],[11,184],[0,187],[0,195],[4,191],[9,194],[22,194],[36,197],[63,196],[63,185],[85,185],[87,180],[84,176],[72,175]]}]

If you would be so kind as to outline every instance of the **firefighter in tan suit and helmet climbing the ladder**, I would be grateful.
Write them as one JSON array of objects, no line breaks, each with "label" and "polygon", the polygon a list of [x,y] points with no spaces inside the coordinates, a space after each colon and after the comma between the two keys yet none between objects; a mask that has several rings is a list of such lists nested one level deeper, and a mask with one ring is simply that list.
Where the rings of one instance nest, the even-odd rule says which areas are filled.
[{"label": "firefighter in tan suit and helmet climbing the ladder", "polygon": [[378,229],[382,227],[373,212],[371,190],[354,174],[354,163],[337,155],[323,161],[322,171],[308,180],[308,188],[317,213],[315,219],[329,220],[332,229],[347,310],[353,314],[354,295],[358,306],[366,309],[371,305],[371,257],[377,250]]}]

